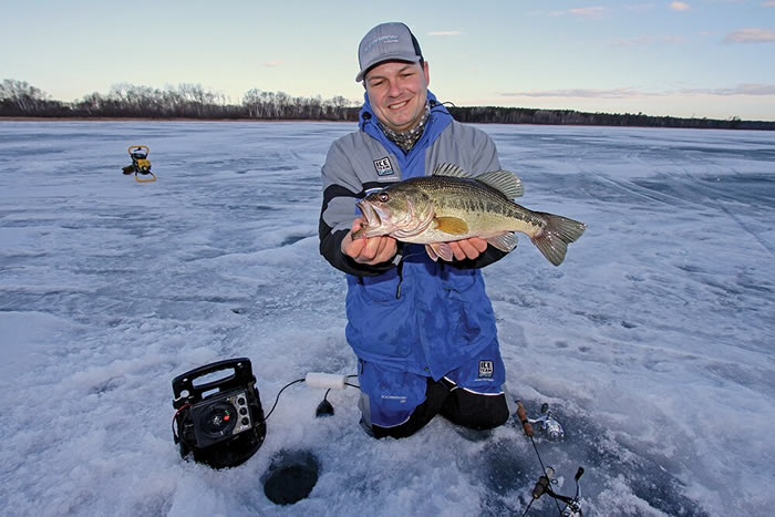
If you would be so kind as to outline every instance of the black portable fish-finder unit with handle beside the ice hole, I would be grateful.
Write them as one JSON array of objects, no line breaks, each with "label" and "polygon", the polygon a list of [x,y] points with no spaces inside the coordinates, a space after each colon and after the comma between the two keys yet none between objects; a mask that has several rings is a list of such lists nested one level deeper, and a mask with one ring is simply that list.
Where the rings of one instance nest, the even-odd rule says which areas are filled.
[{"label": "black portable fish-finder unit with handle beside the ice hole", "polygon": [[[232,373],[202,380],[224,370]],[[193,454],[195,462],[214,468],[235,467],[264,443],[267,425],[250,360],[229,359],[183,373],[173,380],[173,437],[182,457]]]}]

